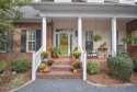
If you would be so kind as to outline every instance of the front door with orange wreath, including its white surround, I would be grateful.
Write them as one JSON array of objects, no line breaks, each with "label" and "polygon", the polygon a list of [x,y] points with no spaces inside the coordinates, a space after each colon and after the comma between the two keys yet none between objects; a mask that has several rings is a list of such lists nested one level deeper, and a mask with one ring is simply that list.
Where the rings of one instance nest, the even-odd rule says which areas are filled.
[{"label": "front door with orange wreath, including its white surround", "polygon": [[71,30],[56,30],[56,46],[59,46],[60,56],[69,56],[71,50]]}]

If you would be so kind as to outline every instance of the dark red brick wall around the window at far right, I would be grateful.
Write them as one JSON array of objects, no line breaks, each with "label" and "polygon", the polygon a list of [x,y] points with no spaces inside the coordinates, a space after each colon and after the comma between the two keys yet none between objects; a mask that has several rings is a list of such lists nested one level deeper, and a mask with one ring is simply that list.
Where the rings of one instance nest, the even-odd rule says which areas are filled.
[{"label": "dark red brick wall around the window at far right", "polygon": [[[130,21],[127,23],[127,34],[130,34],[133,31],[137,31],[137,20]],[[127,51],[130,57],[137,57],[137,46],[127,45]]]}]

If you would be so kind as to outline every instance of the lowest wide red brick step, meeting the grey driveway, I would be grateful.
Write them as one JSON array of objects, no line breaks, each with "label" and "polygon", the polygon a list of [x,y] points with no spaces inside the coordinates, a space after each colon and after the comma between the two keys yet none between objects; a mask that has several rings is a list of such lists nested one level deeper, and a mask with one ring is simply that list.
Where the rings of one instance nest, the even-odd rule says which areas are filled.
[{"label": "lowest wide red brick step, meeting the grey driveway", "polygon": [[36,74],[37,79],[80,79],[81,73],[72,73],[71,71],[50,71],[49,73]]}]

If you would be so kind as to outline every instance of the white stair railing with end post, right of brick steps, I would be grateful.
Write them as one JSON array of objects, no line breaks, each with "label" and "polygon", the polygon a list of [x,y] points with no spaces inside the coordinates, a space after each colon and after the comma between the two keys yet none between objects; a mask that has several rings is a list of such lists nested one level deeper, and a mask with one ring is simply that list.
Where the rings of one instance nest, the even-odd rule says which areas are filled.
[{"label": "white stair railing with end post, right of brick steps", "polygon": [[83,80],[87,80],[87,53],[83,51],[82,47],[79,47],[79,50],[81,53],[80,60],[82,61]]}]

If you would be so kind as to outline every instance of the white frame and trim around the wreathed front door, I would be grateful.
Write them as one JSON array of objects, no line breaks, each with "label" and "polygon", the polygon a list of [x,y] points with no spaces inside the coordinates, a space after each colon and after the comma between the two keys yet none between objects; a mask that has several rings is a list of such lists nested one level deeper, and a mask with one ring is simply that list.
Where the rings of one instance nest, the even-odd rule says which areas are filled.
[{"label": "white frame and trim around the wreathed front door", "polygon": [[[56,32],[57,30],[60,30],[60,32]],[[64,32],[65,30],[67,30],[68,32]],[[67,33],[68,34],[68,54],[67,55],[61,55],[61,56],[69,56],[70,51],[71,51],[71,46],[72,46],[72,41],[71,39],[71,35],[72,35],[72,30],[71,28],[55,28],[54,30],[54,46],[56,46],[56,44],[60,44],[59,43],[59,36],[58,36],[58,42],[56,43],[56,35],[61,34],[61,33]],[[71,45],[71,46],[70,46]]]}]

